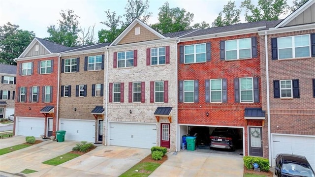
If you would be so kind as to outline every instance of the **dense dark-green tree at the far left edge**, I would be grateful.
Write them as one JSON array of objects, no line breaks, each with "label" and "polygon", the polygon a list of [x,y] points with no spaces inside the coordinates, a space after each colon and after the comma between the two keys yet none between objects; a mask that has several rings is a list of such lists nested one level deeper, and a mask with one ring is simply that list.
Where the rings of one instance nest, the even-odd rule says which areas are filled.
[{"label": "dense dark-green tree at the far left edge", "polygon": [[16,65],[18,58],[35,37],[33,31],[19,29],[8,22],[0,27],[0,62]]}]

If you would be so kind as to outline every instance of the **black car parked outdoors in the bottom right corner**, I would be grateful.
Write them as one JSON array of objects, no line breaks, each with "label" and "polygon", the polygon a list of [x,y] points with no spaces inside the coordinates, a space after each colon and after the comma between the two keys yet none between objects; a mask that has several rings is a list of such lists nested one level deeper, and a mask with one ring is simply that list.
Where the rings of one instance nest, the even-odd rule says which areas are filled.
[{"label": "black car parked outdoors in the bottom right corner", "polygon": [[302,155],[278,154],[275,163],[277,177],[315,177],[314,171]]}]

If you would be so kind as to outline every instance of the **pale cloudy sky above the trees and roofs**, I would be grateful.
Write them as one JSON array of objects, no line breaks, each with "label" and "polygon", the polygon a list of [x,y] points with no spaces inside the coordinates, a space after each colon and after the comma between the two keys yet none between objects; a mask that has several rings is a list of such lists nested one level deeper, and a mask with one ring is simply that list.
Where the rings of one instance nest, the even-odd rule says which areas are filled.
[{"label": "pale cloudy sky above the trees and roofs", "polygon": [[[191,25],[205,21],[211,26],[229,0],[149,0],[149,12],[153,15],[148,25],[158,22],[158,8],[166,1],[170,8],[184,8],[187,12],[193,13]],[[237,8],[242,1],[235,0]],[[58,27],[61,10],[72,9],[74,14],[80,17],[78,21],[82,29],[87,31],[90,26],[95,25],[94,33],[97,38],[97,31],[106,29],[105,25],[100,24],[107,20],[104,11],[109,9],[123,16],[126,4],[127,0],[0,0],[0,26],[10,22],[19,25],[19,29],[33,31],[36,37],[44,38],[49,36],[47,27],[51,25]],[[244,13],[243,10],[241,22],[245,22]],[[122,20],[125,21],[125,17]]]}]

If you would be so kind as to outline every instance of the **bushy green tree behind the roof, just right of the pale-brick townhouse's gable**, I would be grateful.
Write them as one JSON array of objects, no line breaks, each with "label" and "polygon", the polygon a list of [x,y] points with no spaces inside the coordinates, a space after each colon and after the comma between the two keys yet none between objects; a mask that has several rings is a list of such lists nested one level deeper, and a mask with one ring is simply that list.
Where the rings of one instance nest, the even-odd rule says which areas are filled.
[{"label": "bushy green tree behind the roof, just right of the pale-brick townhouse's gable", "polygon": [[191,29],[192,19],[193,13],[187,12],[184,8],[169,8],[168,2],[165,2],[159,8],[158,23],[151,27],[160,33],[183,31]]}]

